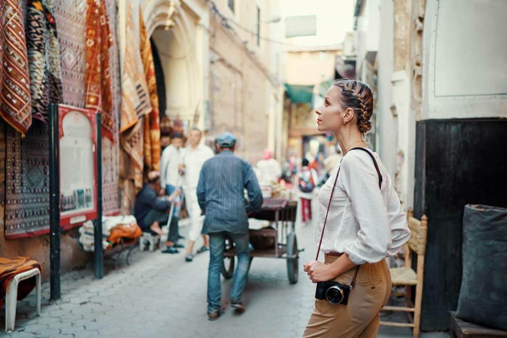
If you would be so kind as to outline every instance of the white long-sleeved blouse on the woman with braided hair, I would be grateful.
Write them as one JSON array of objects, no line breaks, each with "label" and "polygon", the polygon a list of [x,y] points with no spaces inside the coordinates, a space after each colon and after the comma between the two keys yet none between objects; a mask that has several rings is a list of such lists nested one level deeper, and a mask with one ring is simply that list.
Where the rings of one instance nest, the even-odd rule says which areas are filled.
[{"label": "white long-sleeved blouse on the woman with braided hair", "polygon": [[[356,265],[395,255],[410,237],[405,211],[391,177],[377,153],[370,153],[382,175],[381,189],[372,158],[361,150],[349,151],[339,165],[340,175],[320,249],[324,253],[347,253]],[[337,172],[338,168],[319,191],[317,244]]]}]

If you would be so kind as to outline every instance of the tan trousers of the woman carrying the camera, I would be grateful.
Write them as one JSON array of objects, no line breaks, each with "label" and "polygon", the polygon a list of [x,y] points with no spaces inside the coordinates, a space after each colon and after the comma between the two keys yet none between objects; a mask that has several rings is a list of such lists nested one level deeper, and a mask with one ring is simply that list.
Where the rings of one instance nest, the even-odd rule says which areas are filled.
[{"label": "tan trousers of the woman carrying the camera", "polygon": [[[325,255],[325,264],[330,264],[337,258]],[[334,281],[350,285],[354,272],[355,268],[341,274]],[[380,309],[387,303],[390,294],[391,274],[385,259],[361,265],[347,305],[315,299],[315,309],[303,337],[376,337],[380,325]]]}]

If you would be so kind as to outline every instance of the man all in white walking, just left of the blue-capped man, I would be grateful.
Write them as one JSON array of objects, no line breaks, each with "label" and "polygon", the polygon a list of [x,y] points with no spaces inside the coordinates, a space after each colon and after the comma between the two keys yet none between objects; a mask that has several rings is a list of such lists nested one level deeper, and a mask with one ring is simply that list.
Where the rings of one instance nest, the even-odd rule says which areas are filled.
[{"label": "man all in white walking, just left of the blue-capped man", "polygon": [[[188,145],[185,149],[182,163],[179,165],[180,172],[183,172],[183,190],[185,192],[185,206],[190,217],[190,232],[189,232],[189,245],[187,248],[186,261],[192,261],[194,258],[194,243],[201,235],[202,221],[201,208],[197,202],[197,183],[199,182],[199,174],[202,165],[208,159],[214,156],[210,147],[200,144],[202,132],[193,128],[190,131]],[[197,250],[197,253],[207,251],[209,248],[209,238],[207,235],[202,235],[204,245]]]}]

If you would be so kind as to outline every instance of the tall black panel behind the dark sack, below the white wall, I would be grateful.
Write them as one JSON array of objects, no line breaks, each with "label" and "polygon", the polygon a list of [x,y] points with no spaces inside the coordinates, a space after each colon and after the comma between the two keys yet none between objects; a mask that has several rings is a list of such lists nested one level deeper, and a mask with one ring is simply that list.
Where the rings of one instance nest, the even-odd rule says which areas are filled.
[{"label": "tall black panel behind the dark sack, below the white wall", "polygon": [[507,207],[507,119],[417,124],[414,215],[428,216],[421,329],[449,328],[461,284],[463,207]]}]

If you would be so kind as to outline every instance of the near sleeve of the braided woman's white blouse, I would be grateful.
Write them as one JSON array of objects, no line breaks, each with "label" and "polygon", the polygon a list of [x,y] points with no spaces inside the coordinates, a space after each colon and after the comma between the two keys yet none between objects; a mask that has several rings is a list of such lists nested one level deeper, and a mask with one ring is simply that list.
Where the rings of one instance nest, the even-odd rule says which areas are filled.
[{"label": "near sleeve of the braided woman's white blouse", "polygon": [[377,170],[368,154],[354,151],[343,159],[340,176],[360,228],[345,253],[355,265],[378,262],[387,256],[391,232]]}]

